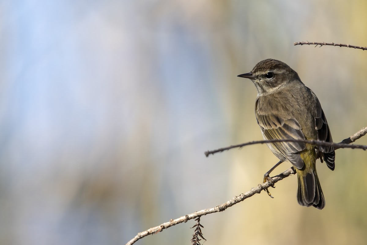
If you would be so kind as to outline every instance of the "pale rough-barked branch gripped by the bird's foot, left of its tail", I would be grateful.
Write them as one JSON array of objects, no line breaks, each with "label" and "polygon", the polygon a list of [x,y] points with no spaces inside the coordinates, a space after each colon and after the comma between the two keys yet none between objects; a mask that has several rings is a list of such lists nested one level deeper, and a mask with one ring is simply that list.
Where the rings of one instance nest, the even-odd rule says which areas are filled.
[{"label": "pale rough-barked branch gripped by the bird's foot, left of its tail", "polygon": [[230,199],[228,202],[222,203],[221,205],[218,205],[214,208],[208,208],[208,209],[203,209],[194,213],[190,213],[189,215],[185,215],[185,216],[181,216],[177,219],[174,220],[170,220],[166,223],[161,224],[160,226],[156,226],[156,227],[152,227],[146,231],[140,232],[138,233],[138,235],[136,235],[134,238],[132,238],[126,245],[131,245],[134,244],[136,241],[138,241],[139,239],[146,237],[147,235],[150,234],[155,234],[159,231],[162,231],[163,229],[166,229],[168,227],[174,226],[175,224],[179,224],[182,222],[186,222],[188,220],[191,219],[195,219],[197,217],[203,216],[203,215],[207,215],[210,213],[216,213],[216,212],[222,212],[224,210],[226,210],[227,208],[229,208],[230,206],[235,205],[236,203],[239,203],[241,201],[243,201],[246,198],[252,197],[253,195],[260,193],[262,190],[265,190],[266,188],[271,187],[274,183],[278,182],[279,180],[282,180],[288,176],[290,176],[291,174],[294,174],[294,170],[292,168],[287,169],[286,171],[284,171],[283,173],[280,173],[279,175],[272,177],[273,181],[266,181],[264,184],[259,184],[257,187],[251,188],[250,191],[247,191],[244,194],[240,194],[239,196],[233,197],[232,199]]}]

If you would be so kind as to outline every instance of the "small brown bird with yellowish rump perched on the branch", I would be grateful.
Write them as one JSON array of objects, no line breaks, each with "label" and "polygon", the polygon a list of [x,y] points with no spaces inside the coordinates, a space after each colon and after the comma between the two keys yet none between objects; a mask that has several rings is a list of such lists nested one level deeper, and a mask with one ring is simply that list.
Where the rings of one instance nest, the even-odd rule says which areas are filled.
[{"label": "small brown bird with yellowish rump perched on the branch", "polygon": [[[333,142],[319,99],[286,63],[273,59],[263,60],[251,72],[238,76],[251,79],[256,86],[258,95],[255,114],[264,140]],[[302,142],[275,142],[267,145],[280,159],[277,165],[288,161],[295,167],[298,176],[298,203],[323,209],[325,199],[316,173],[316,159],[320,158],[321,162],[324,160],[329,169],[334,170],[334,147]]]}]

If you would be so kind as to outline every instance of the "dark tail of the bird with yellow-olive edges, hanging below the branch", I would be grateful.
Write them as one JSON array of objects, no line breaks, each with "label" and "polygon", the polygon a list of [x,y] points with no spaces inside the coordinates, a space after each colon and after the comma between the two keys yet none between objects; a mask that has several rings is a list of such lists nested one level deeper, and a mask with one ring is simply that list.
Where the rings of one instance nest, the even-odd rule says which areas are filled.
[{"label": "dark tail of the bird with yellow-olive edges, hanging below the branch", "polygon": [[[309,171],[308,171],[309,170]],[[325,198],[321,190],[316,168],[298,170],[298,191],[297,199],[301,206],[314,206],[317,209],[325,207]]]}]

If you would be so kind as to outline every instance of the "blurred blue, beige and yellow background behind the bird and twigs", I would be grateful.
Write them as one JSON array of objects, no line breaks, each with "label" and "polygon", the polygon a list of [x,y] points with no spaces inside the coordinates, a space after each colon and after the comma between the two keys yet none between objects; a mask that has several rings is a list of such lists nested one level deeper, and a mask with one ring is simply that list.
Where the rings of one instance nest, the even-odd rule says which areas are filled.
[{"label": "blurred blue, beige and yellow background behind the bird and twigs", "polygon": [[[286,62],[319,97],[335,142],[366,127],[366,1],[1,1],[0,244],[125,244],[224,203],[278,160],[257,95],[237,78]],[[367,144],[367,137],[357,144]],[[326,208],[297,178],[201,218],[208,244],[365,244],[366,155],[317,163]],[[280,173],[290,167],[283,163]],[[191,220],[136,244],[190,244]]]}]

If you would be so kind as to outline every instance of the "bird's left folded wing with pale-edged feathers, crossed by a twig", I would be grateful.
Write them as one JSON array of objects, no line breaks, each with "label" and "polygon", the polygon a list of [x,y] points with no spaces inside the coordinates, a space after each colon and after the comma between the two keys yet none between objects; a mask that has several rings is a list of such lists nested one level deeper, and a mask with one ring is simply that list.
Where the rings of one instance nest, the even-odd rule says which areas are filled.
[{"label": "bird's left folded wing with pale-edged feathers, crossed by a twig", "polygon": [[[296,139],[305,140],[302,127],[296,119],[283,119],[275,115],[256,115],[257,121],[267,140]],[[301,142],[275,142],[270,143],[275,155],[288,159],[295,167],[302,169],[304,162],[298,152],[306,149],[306,144]],[[270,148],[271,149],[271,148]],[[278,154],[277,154],[278,153]]]}]

